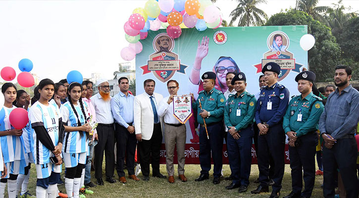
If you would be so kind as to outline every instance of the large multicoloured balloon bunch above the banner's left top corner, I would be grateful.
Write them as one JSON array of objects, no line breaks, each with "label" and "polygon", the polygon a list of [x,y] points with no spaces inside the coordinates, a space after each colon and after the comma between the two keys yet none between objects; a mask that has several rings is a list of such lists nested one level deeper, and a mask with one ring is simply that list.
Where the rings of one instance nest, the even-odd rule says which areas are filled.
[{"label": "large multicoloured balloon bunch above the banner's left top corner", "polygon": [[204,31],[221,24],[222,14],[211,0],[148,0],[144,8],[133,10],[123,26],[130,45],[121,50],[121,57],[127,61],[134,59],[142,51],[140,40],[147,38],[149,30],[157,31],[161,26],[176,39],[182,28]]}]

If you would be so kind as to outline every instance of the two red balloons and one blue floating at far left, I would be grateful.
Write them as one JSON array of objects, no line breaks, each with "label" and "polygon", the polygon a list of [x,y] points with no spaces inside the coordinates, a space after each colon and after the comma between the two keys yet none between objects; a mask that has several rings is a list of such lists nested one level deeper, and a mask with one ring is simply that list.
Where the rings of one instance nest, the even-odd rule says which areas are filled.
[{"label": "two red balloons and one blue floating at far left", "polygon": [[[29,73],[34,67],[31,60],[24,58],[19,62],[19,69],[22,71],[17,75],[17,82],[22,87],[32,87],[35,85],[34,77]],[[12,81],[16,77],[16,72],[12,67],[4,67],[0,72],[1,78],[5,81]]]}]

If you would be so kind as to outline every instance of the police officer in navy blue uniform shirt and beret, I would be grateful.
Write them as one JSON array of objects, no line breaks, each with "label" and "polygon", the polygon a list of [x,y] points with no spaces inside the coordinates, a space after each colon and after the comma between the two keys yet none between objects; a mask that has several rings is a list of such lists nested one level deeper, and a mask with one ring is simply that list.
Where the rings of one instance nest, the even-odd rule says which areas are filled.
[{"label": "police officer in navy blue uniform shirt and beret", "polygon": [[258,168],[260,185],[252,194],[268,192],[269,161],[273,161],[272,193],[269,198],[278,198],[284,175],[285,134],[282,126],[283,116],[288,107],[289,91],[278,84],[280,66],[268,62],[262,69],[267,86],[260,89],[256,105],[256,124],[258,136]]}]

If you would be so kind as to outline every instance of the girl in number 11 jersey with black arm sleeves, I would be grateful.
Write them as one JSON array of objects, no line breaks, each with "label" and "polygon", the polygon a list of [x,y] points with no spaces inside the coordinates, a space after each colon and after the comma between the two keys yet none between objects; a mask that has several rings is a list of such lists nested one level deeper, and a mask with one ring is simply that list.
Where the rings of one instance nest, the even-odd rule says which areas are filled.
[{"label": "girl in number 11 jersey with black arm sleeves", "polygon": [[33,157],[36,166],[37,198],[56,198],[60,178],[63,132],[61,113],[55,102],[54,83],[44,79],[39,83],[39,99],[29,110],[32,131]]}]

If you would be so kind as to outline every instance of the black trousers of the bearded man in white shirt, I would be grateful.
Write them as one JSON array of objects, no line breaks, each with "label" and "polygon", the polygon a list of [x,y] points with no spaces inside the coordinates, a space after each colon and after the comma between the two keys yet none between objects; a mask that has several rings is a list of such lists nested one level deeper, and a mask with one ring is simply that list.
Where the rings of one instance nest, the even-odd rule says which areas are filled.
[{"label": "black trousers of the bearded man in white shirt", "polygon": [[99,142],[95,146],[95,178],[102,178],[102,162],[103,151],[105,152],[105,174],[106,177],[113,176],[114,172],[114,148],[115,148],[115,135],[113,124],[103,125],[99,124],[96,128],[99,135]]}]

